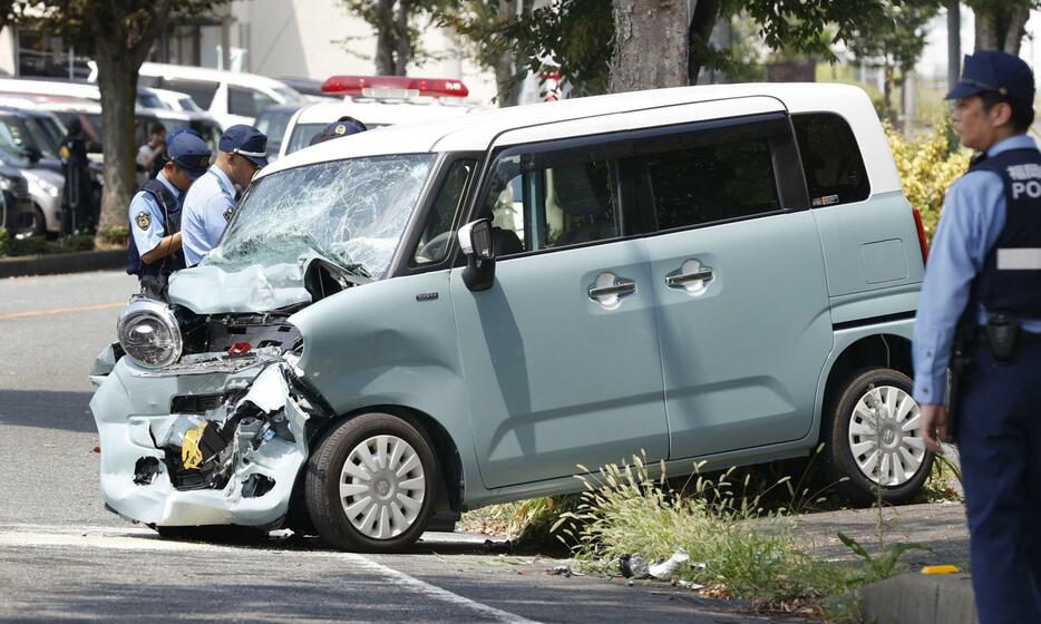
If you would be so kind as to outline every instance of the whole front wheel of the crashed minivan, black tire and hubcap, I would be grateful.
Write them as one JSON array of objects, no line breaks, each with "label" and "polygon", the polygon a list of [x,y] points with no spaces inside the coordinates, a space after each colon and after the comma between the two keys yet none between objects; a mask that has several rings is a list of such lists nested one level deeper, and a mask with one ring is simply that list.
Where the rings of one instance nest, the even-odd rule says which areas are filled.
[{"label": "whole front wheel of the crashed minivan, black tire and hubcap", "polygon": [[418,427],[362,415],[337,427],[308,461],[308,513],[337,548],[400,552],[426,530],[437,479],[437,459]]}]

